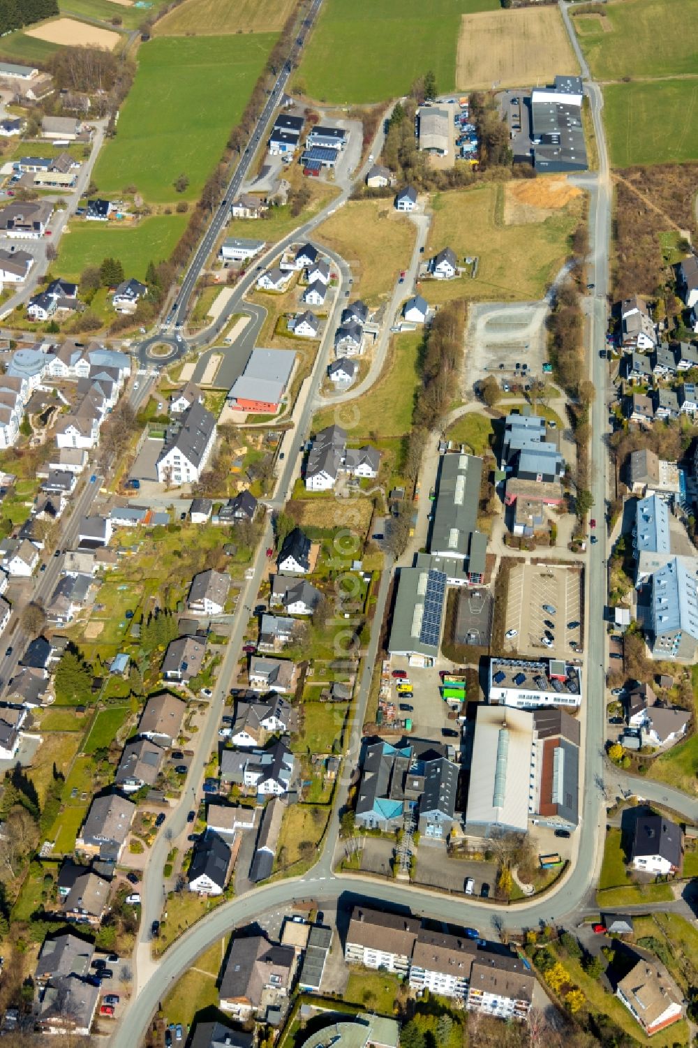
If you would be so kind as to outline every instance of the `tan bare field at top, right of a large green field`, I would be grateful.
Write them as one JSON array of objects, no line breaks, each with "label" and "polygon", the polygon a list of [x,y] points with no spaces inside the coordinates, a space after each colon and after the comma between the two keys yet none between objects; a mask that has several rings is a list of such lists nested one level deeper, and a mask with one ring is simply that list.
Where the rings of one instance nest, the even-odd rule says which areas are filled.
[{"label": "tan bare field at top, right of a large green field", "polygon": [[459,89],[552,83],[580,71],[558,7],[463,15],[458,38]]}]

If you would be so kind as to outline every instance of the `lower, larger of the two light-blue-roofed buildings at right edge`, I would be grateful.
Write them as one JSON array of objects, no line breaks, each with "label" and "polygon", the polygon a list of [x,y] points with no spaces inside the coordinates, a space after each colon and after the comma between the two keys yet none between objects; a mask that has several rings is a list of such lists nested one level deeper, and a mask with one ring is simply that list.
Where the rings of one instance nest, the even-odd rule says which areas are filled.
[{"label": "lower, larger of the two light-blue-roofed buildings at right edge", "polygon": [[698,646],[698,558],[675,556],[651,578],[650,647],[656,659],[695,662]]}]

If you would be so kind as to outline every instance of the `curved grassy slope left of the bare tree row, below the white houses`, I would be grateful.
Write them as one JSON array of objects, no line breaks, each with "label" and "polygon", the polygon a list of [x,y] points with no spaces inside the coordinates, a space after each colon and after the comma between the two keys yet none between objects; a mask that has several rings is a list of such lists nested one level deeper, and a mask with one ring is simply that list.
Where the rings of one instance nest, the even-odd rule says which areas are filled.
[{"label": "curved grassy slope left of the bare tree row, below the white houses", "polygon": [[332,422],[344,427],[352,437],[378,439],[403,437],[412,425],[414,398],[420,385],[417,358],[423,334],[410,331],[395,335],[383,371],[373,386],[345,407],[326,408],[312,420],[313,431]]}]

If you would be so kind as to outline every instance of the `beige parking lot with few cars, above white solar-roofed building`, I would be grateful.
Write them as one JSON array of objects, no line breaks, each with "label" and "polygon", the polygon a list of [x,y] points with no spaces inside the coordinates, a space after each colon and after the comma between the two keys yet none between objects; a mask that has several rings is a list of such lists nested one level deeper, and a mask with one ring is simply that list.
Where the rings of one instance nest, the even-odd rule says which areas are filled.
[{"label": "beige parking lot with few cars, above white solar-roofed building", "polygon": [[[518,564],[509,574],[505,630],[517,636],[505,639],[507,655],[549,654],[573,658],[582,651],[583,576],[580,568],[554,564]],[[546,605],[546,610],[543,606]],[[554,610],[550,611],[552,608]],[[576,625],[571,625],[576,624]],[[546,636],[552,639],[548,647]],[[576,650],[572,648],[576,645]]]}]

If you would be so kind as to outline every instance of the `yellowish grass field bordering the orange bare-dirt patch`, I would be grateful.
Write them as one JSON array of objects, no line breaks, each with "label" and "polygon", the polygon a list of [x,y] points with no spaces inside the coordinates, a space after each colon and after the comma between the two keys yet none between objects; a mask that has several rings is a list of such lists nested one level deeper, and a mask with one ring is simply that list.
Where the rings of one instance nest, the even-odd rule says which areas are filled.
[{"label": "yellowish grass field bordering the orange bare-dirt patch", "polygon": [[477,256],[477,276],[424,281],[429,303],[452,299],[518,302],[541,299],[570,254],[570,238],[581,216],[576,197],[540,222],[504,223],[503,183],[452,190],[433,197],[426,256],[452,247],[462,263]]}]

